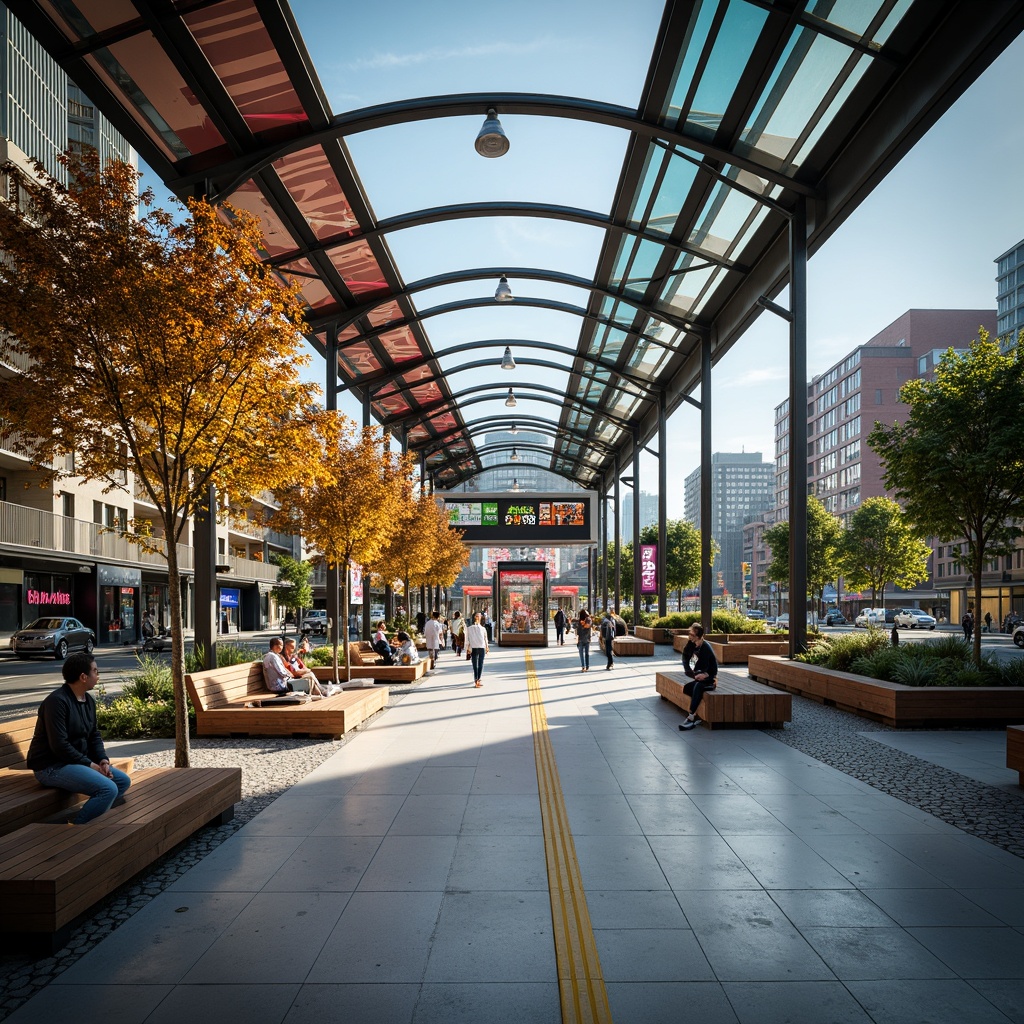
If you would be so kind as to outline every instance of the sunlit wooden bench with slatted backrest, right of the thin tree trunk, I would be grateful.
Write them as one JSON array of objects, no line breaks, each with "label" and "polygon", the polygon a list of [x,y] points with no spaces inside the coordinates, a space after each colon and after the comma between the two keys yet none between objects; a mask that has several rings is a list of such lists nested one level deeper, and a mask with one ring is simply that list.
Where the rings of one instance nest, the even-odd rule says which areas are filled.
[{"label": "sunlit wooden bench with slatted backrest, right of the thin tree trunk", "polygon": [[[387,687],[374,687],[344,690],[307,703],[279,703],[278,694],[267,690],[263,682],[262,662],[194,672],[185,676],[185,686],[196,709],[199,736],[310,735],[340,739],[387,707],[389,693]],[[249,707],[257,702],[260,707]]]}]

